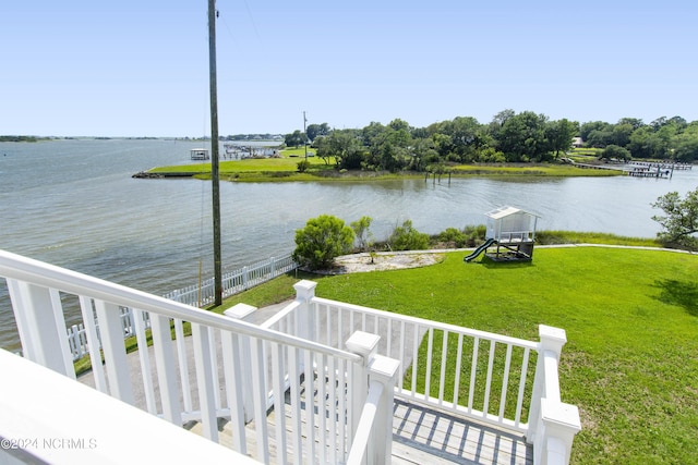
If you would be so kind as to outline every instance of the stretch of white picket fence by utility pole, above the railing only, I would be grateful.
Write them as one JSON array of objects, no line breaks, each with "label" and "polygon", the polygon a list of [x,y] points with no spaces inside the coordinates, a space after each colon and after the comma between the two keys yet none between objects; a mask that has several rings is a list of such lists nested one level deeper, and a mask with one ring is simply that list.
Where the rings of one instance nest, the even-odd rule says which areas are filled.
[{"label": "stretch of white picket fence by utility pole, above the railing only", "polygon": [[[284,257],[272,257],[267,260],[229,271],[224,273],[221,278],[222,296],[229,297],[246,291],[250,287],[293,271],[296,268],[298,268],[298,265],[293,261],[291,255],[286,255]],[[202,281],[200,285],[190,285],[169,292],[165,297],[194,307],[204,307],[216,299],[214,279],[208,278]]]}]

